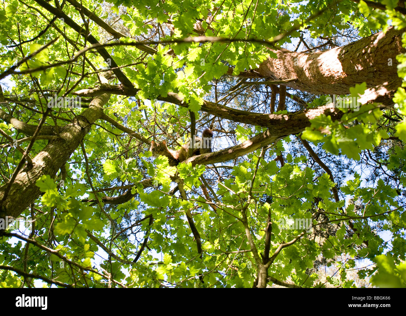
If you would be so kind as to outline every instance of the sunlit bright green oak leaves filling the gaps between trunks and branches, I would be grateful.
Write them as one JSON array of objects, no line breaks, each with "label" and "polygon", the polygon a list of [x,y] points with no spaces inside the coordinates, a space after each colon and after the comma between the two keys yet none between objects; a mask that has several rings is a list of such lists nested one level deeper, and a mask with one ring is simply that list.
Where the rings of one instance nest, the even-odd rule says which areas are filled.
[{"label": "sunlit bright green oak leaves filling the gaps between trunks and branches", "polygon": [[[386,10],[348,0],[308,3],[110,0],[109,3],[106,6],[101,1],[82,1],[84,7],[113,28],[128,32],[121,41],[162,43],[149,45],[156,49],[154,54],[134,46],[106,48],[139,91],[131,97],[112,95],[105,113],[149,141],[153,136],[155,140],[166,139],[173,149],[179,148],[178,144],[190,135],[188,110],[195,113],[198,128],[214,127],[222,148],[264,131],[265,128],[258,126],[215,119],[200,109],[203,98],[218,100],[217,93],[222,93],[221,97],[226,95],[227,89],[238,82],[238,78],[225,76],[230,66],[232,75],[237,75],[257,68],[274,55],[267,45],[258,41],[171,41],[201,35],[271,41],[289,32],[277,43],[282,46],[296,45],[301,32],[305,32],[314,43],[319,36],[335,36],[342,45],[346,43],[344,32],[355,38],[368,36],[386,30],[389,20],[397,28],[406,26],[405,17],[393,10],[397,5],[395,0],[382,1]],[[60,6],[99,43],[114,41],[96,23],[82,17],[73,5],[66,2]],[[207,20],[208,16],[214,17],[213,22]],[[63,21],[52,19],[53,15],[39,2],[1,2],[1,72],[55,38],[58,40],[53,45],[18,69],[69,60],[89,46],[84,37]],[[205,30],[203,34],[195,29],[197,21]],[[62,96],[97,85],[95,72],[108,69],[108,64],[95,50],[84,56],[28,75],[13,75],[9,77],[9,89],[5,89],[3,80],[4,97],[9,98],[14,117],[36,124],[46,109],[47,93],[53,95],[57,91]],[[398,61],[398,73],[404,78],[406,55],[398,56]],[[113,79],[109,83],[118,81]],[[214,88],[217,83],[222,84]],[[351,94],[363,94],[365,87],[365,83],[356,85]],[[179,94],[188,108],[155,100],[168,92]],[[244,93],[231,102],[233,107],[266,113],[259,106],[263,102],[261,97]],[[176,169],[169,167],[162,156],[153,160],[148,144],[130,139],[108,122],[97,122],[83,141],[86,159],[78,147],[65,165],[66,175],[63,171],[54,178],[43,175],[37,181],[43,195],[22,214],[28,220],[35,214],[35,232],[30,235],[30,231],[25,231],[26,237],[30,235],[30,239],[49,250],[35,244],[27,247],[24,240],[4,236],[0,239],[0,265],[75,287],[252,287],[258,262],[248,242],[246,227],[255,248],[263,254],[270,216],[274,223],[270,255],[281,243],[302,233],[302,230],[281,229],[277,225],[279,220],[304,218],[313,224],[311,233],[284,248],[270,265],[268,274],[273,278],[301,287],[354,287],[346,271],[356,267],[356,260],[367,258],[377,265],[359,268],[359,278],[369,278],[378,269],[371,280],[373,285],[405,287],[405,96],[404,88],[399,88],[393,99],[395,111],[371,104],[361,107],[359,112],[345,113],[340,121],[333,122],[326,115],[312,120],[302,138],[313,143],[319,156],[327,161],[336,184],[300,149],[294,135],[266,150],[258,149],[235,161],[224,162],[217,169],[204,165],[192,167],[192,164],[179,164]],[[325,96],[308,95],[304,99],[308,107],[317,107],[324,104]],[[45,124],[61,126],[80,111],[60,109],[47,117]],[[384,115],[400,120],[387,122]],[[13,139],[24,137],[11,124],[2,122],[0,128]],[[329,132],[323,132],[325,129]],[[233,133],[221,134],[221,130]],[[393,142],[389,141],[391,137],[395,139]],[[38,139],[30,155],[35,156],[47,142]],[[3,143],[7,141],[3,139]],[[2,148],[2,184],[22,158],[14,149]],[[368,152],[376,160],[374,166],[380,166],[383,172],[365,163],[363,157]],[[283,166],[275,160],[279,155],[284,157]],[[174,186],[170,177],[176,171],[184,180],[188,199],[168,194]],[[212,201],[201,190],[202,176],[215,192],[214,195],[210,190]],[[95,199],[89,178],[99,203],[84,201]],[[155,181],[155,187],[143,186],[144,179]],[[132,187],[134,198],[118,205],[101,201],[105,195],[123,194],[122,186]],[[113,187],[118,188],[103,190]],[[333,187],[340,192],[338,202],[333,199]],[[186,220],[185,213],[189,211],[201,237],[202,254]],[[152,224],[148,216],[152,216]],[[349,220],[355,231],[349,228]],[[378,234],[383,230],[390,233],[390,242]],[[144,240],[147,240],[146,247],[133,263]],[[102,250],[101,245],[106,249]],[[339,273],[333,278],[320,279],[317,271],[333,264],[340,266]],[[39,286],[37,282],[24,278],[21,273],[0,270],[1,287]],[[44,284],[49,286],[46,281]]]}]

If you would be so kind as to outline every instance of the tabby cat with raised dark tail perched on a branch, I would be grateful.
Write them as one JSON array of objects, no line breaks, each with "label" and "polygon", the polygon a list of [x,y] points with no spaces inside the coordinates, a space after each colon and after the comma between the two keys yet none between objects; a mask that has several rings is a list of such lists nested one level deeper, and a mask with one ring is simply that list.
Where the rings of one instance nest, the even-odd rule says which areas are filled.
[{"label": "tabby cat with raised dark tail perched on a branch", "polygon": [[167,157],[169,166],[176,167],[179,162],[189,158],[189,148],[193,148],[191,156],[212,152],[212,140],[213,132],[206,128],[203,130],[202,137],[195,137],[192,144],[188,141],[186,144],[182,145],[179,150],[168,149],[168,147],[166,147],[166,141],[162,141],[161,143],[151,141],[151,148],[149,148],[149,151],[152,152],[153,157],[158,157],[160,155]]}]

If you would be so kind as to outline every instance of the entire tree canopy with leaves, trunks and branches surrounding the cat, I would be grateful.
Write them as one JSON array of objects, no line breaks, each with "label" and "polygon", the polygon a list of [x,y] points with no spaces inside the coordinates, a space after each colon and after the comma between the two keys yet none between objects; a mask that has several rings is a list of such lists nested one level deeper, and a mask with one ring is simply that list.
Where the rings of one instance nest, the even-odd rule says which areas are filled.
[{"label": "entire tree canopy with leaves, trunks and branches surrounding the cat", "polygon": [[[405,260],[403,1],[109,2],[3,2],[1,286],[350,287]],[[206,127],[213,152],[151,158]]]}]

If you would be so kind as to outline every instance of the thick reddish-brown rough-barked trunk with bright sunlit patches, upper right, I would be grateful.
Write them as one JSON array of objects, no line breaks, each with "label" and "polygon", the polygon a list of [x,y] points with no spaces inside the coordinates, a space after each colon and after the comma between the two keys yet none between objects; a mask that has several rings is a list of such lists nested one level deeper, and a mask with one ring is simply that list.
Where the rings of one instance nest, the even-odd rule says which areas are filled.
[{"label": "thick reddish-brown rough-barked trunk with bright sunlit patches, upper right", "polygon": [[[365,81],[367,88],[384,85],[389,93],[402,82],[396,67],[396,55],[405,52],[402,32],[390,27],[386,34],[378,32],[348,45],[315,53],[280,49],[274,51],[277,59],[268,58],[257,69],[241,73],[240,77],[295,78],[296,81],[286,83],[289,88],[314,94],[348,94],[350,87]],[[388,65],[389,58],[392,66]]]}]

